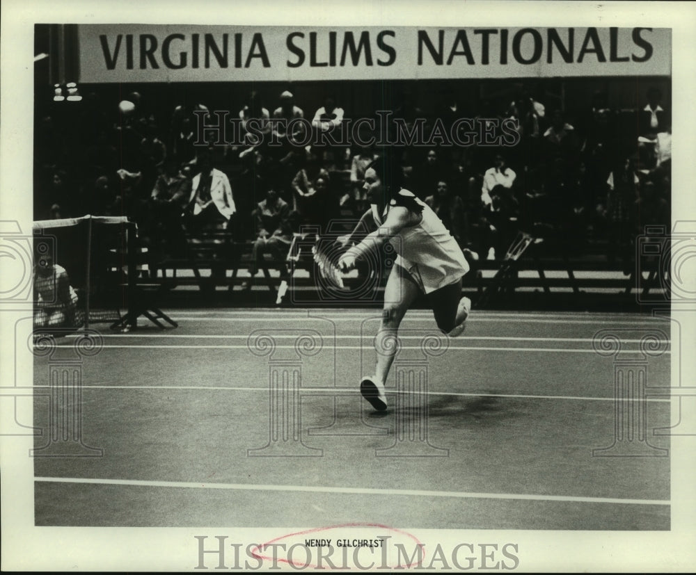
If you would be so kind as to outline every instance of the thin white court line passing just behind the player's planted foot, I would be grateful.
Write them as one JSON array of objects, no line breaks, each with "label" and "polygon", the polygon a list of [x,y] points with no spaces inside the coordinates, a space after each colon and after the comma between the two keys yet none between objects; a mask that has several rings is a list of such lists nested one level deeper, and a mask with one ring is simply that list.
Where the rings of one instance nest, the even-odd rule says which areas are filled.
[{"label": "thin white court line passing just behind the player's planted foot", "polygon": [[[35,385],[33,387],[8,387],[6,389],[50,389],[49,385]],[[213,385],[83,385],[81,389],[166,389],[168,391],[267,391],[265,387],[233,387],[233,386],[213,386]],[[356,396],[360,391],[354,387],[302,387],[304,395],[311,396],[313,392],[317,394],[330,394],[354,392]],[[0,394],[2,388],[0,388]],[[396,395],[399,393],[395,389],[386,389],[385,393]],[[10,394],[7,394],[10,395]],[[512,399],[570,399],[586,401],[615,401],[613,397],[583,397],[583,396],[532,396],[525,394],[465,394],[457,391],[404,391],[403,395],[427,395],[427,396],[451,396],[451,397],[502,397]],[[650,401],[653,403],[670,403],[671,398],[622,398],[622,401]]]}]

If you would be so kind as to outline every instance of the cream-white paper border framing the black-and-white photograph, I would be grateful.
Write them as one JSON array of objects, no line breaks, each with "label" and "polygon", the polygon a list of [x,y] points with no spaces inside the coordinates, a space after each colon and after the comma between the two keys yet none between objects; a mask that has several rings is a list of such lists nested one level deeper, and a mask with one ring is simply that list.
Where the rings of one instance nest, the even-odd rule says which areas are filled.
[{"label": "cream-white paper border framing the black-and-white photograph", "polygon": [[[187,7],[188,6],[188,7]],[[307,26],[645,26],[672,28],[673,200],[672,218],[696,220],[696,95],[694,54],[696,6],[663,2],[388,2],[345,0],[245,2],[3,0],[1,22],[0,220],[18,220],[31,231],[33,159],[33,25],[35,23],[172,23]],[[0,262],[1,265],[1,262]],[[22,313],[0,311],[1,337],[15,337]],[[674,317],[694,322],[696,314]],[[682,350],[693,343],[681,342]],[[0,346],[0,385],[11,385],[12,346]],[[683,381],[693,382],[694,358],[682,357]],[[31,385],[27,350],[18,373]],[[672,355],[672,373],[679,357]],[[673,384],[676,384],[674,382]],[[693,383],[692,383],[693,384]],[[2,412],[3,414],[6,411]],[[696,414],[684,414],[689,419]],[[197,561],[193,535],[239,536],[240,542],[269,540],[287,529],[37,528],[33,525],[32,437],[0,437],[3,570],[183,571]],[[519,544],[523,572],[688,572],[696,566],[693,469],[696,437],[671,438],[672,529],[615,531],[436,531],[412,530],[421,541]],[[302,526],[298,526],[301,528]],[[472,569],[473,571],[475,569]]]}]

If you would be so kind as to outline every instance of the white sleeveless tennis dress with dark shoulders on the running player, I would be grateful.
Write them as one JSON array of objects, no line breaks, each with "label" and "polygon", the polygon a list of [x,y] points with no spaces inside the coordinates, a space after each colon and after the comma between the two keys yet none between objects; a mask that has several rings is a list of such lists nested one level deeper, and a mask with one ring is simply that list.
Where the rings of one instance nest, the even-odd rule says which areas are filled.
[{"label": "white sleeveless tennis dress with dark shoulders on the running player", "polygon": [[[401,190],[399,195],[409,197],[411,201],[415,200],[419,206],[422,206],[423,211],[418,225],[404,227],[390,239],[391,245],[398,254],[395,263],[409,272],[425,293],[431,293],[457,282],[469,270],[459,244],[427,204],[418,200],[408,190]],[[374,206],[372,216],[375,223],[378,226],[383,225],[390,206],[398,204],[397,200],[391,200],[385,206],[381,217]]]}]

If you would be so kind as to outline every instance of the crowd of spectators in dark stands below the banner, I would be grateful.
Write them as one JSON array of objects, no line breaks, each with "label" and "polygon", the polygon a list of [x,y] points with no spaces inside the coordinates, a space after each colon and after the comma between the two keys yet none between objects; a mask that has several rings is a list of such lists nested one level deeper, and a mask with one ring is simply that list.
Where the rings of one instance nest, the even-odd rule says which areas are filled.
[{"label": "crowd of spectators in dark stands below the banner", "polygon": [[[552,109],[525,89],[509,93],[465,110],[446,90],[423,113],[404,92],[391,111],[409,125],[515,120],[516,145],[394,146],[404,187],[436,211],[463,250],[503,257],[523,229],[555,238],[569,255],[594,244],[608,259],[627,261],[644,226],[670,224],[671,120],[659,90],[631,111],[610,106],[603,92],[574,110]],[[331,94],[306,111],[289,90],[276,102],[252,93],[228,111],[242,130],[234,144],[200,145],[199,122],[212,117],[205,103],[166,109],[132,92],[113,107],[90,93],[68,120],[58,117],[60,105],[67,107],[54,104],[35,118],[35,219],[128,216],[157,257],[181,254],[187,234],[207,229],[280,254],[302,225],[326,229],[332,219],[359,218],[365,170],[380,154],[365,145],[369,138],[294,145],[306,139],[302,131],[331,132],[351,118]],[[298,118],[307,121],[292,122]]]}]

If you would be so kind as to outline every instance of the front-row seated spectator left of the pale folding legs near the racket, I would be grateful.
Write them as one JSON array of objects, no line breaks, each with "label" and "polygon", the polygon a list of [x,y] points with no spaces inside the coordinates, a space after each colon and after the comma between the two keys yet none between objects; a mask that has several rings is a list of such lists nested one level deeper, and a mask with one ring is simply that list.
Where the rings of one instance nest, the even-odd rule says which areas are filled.
[{"label": "front-row seated spectator left of the pale folding legs near the racket", "polygon": [[[280,199],[273,187],[266,192],[266,199],[257,204],[253,216],[256,224],[256,239],[251,250],[249,265],[251,277],[258,273],[264,254],[271,254],[271,257],[276,260],[285,259],[292,242],[290,206]],[[281,272],[287,275],[287,269]],[[251,282],[242,284],[242,289],[250,288]]]}]

